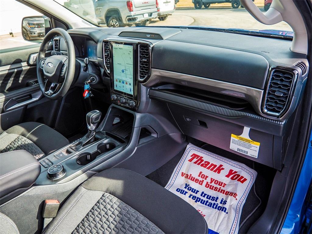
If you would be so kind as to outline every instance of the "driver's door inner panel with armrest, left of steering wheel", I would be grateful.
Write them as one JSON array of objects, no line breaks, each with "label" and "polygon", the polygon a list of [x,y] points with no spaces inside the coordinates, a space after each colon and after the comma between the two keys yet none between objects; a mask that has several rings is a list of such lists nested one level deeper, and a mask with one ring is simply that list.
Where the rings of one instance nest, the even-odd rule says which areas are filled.
[{"label": "driver's door inner panel with armrest, left of steering wheel", "polygon": [[[39,109],[42,107],[40,100],[43,95],[37,83],[36,63],[29,61],[38,52],[39,47],[40,44],[0,50],[0,132],[25,122],[24,119],[36,121],[44,115],[42,113],[36,116],[36,119],[28,118],[34,117],[31,112],[40,113]],[[48,47],[47,56],[50,55],[51,49],[52,45]],[[47,99],[43,101],[48,102]],[[31,108],[28,108],[29,106]],[[47,124],[51,125],[51,121],[48,122]]]}]

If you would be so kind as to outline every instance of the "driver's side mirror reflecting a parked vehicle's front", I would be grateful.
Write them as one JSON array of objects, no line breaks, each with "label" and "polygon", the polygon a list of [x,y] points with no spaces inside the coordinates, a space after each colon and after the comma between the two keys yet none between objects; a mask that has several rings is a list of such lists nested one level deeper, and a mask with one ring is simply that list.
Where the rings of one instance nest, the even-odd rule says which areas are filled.
[{"label": "driver's side mirror reflecting a parked vehicle's front", "polygon": [[22,20],[22,36],[26,41],[40,43],[50,30],[50,19],[46,16],[28,16]]}]

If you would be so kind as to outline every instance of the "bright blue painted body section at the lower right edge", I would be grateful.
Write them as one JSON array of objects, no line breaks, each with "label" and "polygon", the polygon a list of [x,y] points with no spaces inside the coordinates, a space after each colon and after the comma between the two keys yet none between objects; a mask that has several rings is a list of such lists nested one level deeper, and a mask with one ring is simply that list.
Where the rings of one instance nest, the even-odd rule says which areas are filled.
[{"label": "bright blue painted body section at the lower right edge", "polygon": [[[301,169],[300,177],[295,189],[281,233],[301,233],[302,226],[311,222],[311,203],[307,200],[310,192],[312,179],[312,133],[310,143],[305,156],[305,161]],[[308,228],[307,233],[311,233]]]}]

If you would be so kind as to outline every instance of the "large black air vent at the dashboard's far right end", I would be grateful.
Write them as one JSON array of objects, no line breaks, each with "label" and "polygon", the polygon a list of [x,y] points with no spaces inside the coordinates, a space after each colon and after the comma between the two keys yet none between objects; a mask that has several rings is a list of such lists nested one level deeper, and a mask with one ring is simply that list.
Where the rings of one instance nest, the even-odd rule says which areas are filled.
[{"label": "large black air vent at the dashboard's far right end", "polygon": [[294,82],[294,75],[289,71],[274,69],[266,92],[264,111],[280,116],[286,109]]}]

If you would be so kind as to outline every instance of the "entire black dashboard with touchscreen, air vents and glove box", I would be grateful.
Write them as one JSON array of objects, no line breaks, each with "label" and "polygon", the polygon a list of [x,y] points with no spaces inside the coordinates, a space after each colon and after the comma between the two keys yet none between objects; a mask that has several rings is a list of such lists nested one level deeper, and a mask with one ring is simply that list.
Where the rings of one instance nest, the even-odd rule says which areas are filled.
[{"label": "entire black dashboard with touchscreen, air vents and glove box", "polygon": [[[107,103],[137,113],[165,107],[183,134],[281,169],[309,67],[291,41],[186,27],[67,32],[81,67],[74,85],[94,77]],[[67,53],[62,38],[52,53]],[[230,148],[244,128],[261,144],[256,157]]]}]

